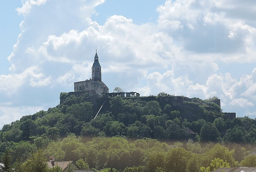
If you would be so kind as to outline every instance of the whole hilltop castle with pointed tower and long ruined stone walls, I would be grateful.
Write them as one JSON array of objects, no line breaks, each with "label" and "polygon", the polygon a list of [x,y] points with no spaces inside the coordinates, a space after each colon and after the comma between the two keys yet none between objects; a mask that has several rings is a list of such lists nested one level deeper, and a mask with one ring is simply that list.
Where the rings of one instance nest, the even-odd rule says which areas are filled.
[{"label": "whole hilltop castle with pointed tower and long ruined stone walls", "polygon": [[[70,96],[82,96],[83,94],[88,94],[87,100],[88,102],[92,102],[94,105],[94,111],[100,112],[102,106],[107,101],[109,105],[110,99],[109,97],[121,96],[125,99],[139,98],[140,100],[144,100],[146,102],[156,100],[159,102],[160,106],[164,106],[166,104],[171,105],[172,107],[177,108],[179,111],[184,111],[184,114],[192,114],[197,115],[201,112],[199,111],[200,108],[205,109],[206,111],[213,111],[221,113],[221,103],[220,99],[215,100],[208,100],[208,103],[203,102],[203,100],[199,98],[188,98],[186,96],[175,96],[175,95],[168,95],[168,96],[143,96],[140,97],[139,93],[136,92],[118,92],[118,93],[109,93],[109,89],[104,82],[101,80],[101,65],[99,64],[99,57],[97,54],[94,56],[94,63],[91,67],[91,78],[85,81],[74,82],[74,92],[69,93],[61,93],[60,94],[60,102],[59,104],[67,104],[72,103],[72,101],[66,101],[66,99]],[[194,103],[193,103],[194,102]],[[209,103],[210,102],[210,103]],[[215,103],[216,106],[212,105]],[[101,106],[100,106],[101,105]],[[162,107],[163,108],[163,107]],[[98,110],[99,109],[99,110]],[[184,110],[185,109],[185,110]],[[186,110],[187,109],[187,110]],[[98,115],[96,114],[96,116]],[[236,117],[236,113],[234,112],[224,112],[224,118],[233,119]],[[95,117],[96,117],[95,116]]]}]

